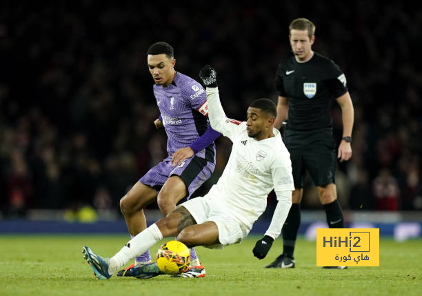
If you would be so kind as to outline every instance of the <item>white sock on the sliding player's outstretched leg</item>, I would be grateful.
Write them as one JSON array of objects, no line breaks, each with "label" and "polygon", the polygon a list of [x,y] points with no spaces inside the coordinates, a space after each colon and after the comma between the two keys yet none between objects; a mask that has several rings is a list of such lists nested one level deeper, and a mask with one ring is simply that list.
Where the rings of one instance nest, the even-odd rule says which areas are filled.
[{"label": "white sock on the sliding player's outstretched leg", "polygon": [[116,255],[110,258],[108,273],[112,275],[119,270],[119,268],[122,268],[126,263],[130,262],[130,260],[134,257],[145,253],[146,250],[151,248],[161,239],[163,239],[161,231],[156,224],[152,224],[137,236],[130,239],[128,244],[121,248]]}]

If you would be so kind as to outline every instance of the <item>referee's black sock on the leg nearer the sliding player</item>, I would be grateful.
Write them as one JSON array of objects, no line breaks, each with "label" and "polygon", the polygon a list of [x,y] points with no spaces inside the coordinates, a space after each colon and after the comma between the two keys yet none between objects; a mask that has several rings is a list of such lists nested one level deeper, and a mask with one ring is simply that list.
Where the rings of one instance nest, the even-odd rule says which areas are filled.
[{"label": "referee's black sock on the leg nearer the sliding player", "polygon": [[301,225],[301,204],[292,204],[289,215],[285,219],[283,229],[283,253],[293,258],[294,245],[296,244],[297,230]]}]

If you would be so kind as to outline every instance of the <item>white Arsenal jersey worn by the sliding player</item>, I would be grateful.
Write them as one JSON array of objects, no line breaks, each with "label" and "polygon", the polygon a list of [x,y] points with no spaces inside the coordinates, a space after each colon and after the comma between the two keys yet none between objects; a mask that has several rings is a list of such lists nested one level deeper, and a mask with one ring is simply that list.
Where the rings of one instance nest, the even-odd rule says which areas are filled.
[{"label": "white Arsenal jersey worn by the sliding player", "polygon": [[274,137],[261,141],[249,137],[246,122],[225,117],[218,88],[207,88],[206,92],[212,128],[233,142],[228,164],[209,195],[223,202],[236,219],[252,228],[265,210],[273,188],[294,190],[290,154],[279,130],[274,128]]}]

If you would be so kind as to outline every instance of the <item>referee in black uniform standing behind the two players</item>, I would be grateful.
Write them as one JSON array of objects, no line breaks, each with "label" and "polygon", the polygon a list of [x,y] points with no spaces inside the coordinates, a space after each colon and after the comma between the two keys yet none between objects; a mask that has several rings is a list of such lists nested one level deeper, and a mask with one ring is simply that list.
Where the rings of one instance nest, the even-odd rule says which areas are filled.
[{"label": "referee in black uniform standing behind the two players", "polygon": [[[289,26],[294,56],[279,63],[277,70],[279,99],[274,127],[281,128],[283,121],[288,119],[283,141],[292,159],[294,191],[292,208],[282,231],[283,254],[266,268],[294,268],[293,253],[301,223],[300,202],[305,170],[318,189],[328,226],[344,227],[334,172],[336,156],[340,162],[348,161],[352,156],[354,110],[343,72],[332,60],[312,51],[314,33],[312,21],[294,19]],[[337,153],[330,115],[332,99],[339,103],[343,120],[343,138]]]}]

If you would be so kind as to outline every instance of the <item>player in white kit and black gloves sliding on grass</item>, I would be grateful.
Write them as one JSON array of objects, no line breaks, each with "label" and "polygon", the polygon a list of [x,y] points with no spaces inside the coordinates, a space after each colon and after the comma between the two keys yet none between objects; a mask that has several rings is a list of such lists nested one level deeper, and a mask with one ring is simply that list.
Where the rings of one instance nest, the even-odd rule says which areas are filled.
[{"label": "player in white kit and black gloves sliding on grass", "polygon": [[[221,248],[240,243],[250,232],[267,204],[274,188],[277,206],[270,227],[252,250],[263,259],[283,227],[292,205],[292,164],[279,130],[273,128],[277,117],[269,99],[253,101],[248,120],[225,117],[217,88],[217,72],[205,66],[199,72],[207,92],[208,117],[214,130],[233,142],[228,164],[217,184],[203,196],[181,204],[176,210],[128,241],[112,258],[103,258],[83,247],[84,257],[99,279],[109,279],[131,259],[148,250],[163,237],[175,237],[188,247]],[[161,275],[157,263],[133,270],[134,277]]]}]

